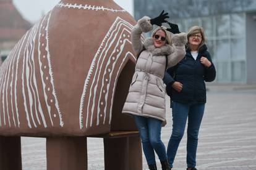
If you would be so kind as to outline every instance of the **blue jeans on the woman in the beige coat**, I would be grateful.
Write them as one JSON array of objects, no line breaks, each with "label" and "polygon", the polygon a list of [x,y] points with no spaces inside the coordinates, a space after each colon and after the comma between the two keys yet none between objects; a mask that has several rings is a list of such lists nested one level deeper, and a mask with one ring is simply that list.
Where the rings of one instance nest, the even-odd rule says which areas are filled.
[{"label": "blue jeans on the woman in the beige coat", "polygon": [[134,116],[135,123],[140,132],[143,152],[148,164],[155,164],[155,153],[160,161],[167,160],[166,149],[161,141],[161,127],[163,121],[155,118],[145,118],[143,116]]}]

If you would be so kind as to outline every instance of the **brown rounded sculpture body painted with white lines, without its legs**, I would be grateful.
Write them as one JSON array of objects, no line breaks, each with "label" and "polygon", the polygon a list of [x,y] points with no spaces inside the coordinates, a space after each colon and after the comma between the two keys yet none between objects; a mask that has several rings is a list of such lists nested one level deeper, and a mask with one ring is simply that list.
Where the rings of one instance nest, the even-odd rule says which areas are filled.
[{"label": "brown rounded sculpture body painted with white lines, without its legs", "polygon": [[111,0],[62,0],[0,70],[0,135],[89,136],[134,129],[121,110],[135,20]]}]

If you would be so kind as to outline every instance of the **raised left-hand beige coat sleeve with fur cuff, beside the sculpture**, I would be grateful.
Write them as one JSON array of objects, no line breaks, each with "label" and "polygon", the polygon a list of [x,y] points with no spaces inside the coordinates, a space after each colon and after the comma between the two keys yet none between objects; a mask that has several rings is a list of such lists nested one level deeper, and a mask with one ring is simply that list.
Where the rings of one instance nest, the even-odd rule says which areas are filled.
[{"label": "raised left-hand beige coat sleeve with fur cuff, beside the sculpture", "polygon": [[131,33],[131,41],[132,41],[132,48],[134,49],[135,55],[137,56],[140,51],[143,49],[143,44],[141,41],[142,32],[147,33],[153,29],[153,25],[150,23],[150,17],[143,17],[141,18],[137,24],[132,28]]}]

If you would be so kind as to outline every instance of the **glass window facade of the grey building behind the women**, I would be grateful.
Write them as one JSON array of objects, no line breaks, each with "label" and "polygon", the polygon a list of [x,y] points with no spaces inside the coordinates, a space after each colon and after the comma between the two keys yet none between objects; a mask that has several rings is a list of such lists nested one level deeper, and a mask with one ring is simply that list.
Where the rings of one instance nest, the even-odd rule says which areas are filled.
[{"label": "glass window facade of the grey building behind the women", "polygon": [[199,25],[205,29],[208,51],[217,69],[219,83],[246,81],[245,14],[224,14],[173,20],[181,31]]}]

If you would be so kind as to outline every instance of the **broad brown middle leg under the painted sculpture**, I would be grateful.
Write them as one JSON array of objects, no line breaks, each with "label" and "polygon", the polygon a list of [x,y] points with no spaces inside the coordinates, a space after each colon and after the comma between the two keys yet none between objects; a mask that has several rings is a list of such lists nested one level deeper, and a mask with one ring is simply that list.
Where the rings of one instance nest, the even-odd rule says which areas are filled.
[{"label": "broad brown middle leg under the painted sculpture", "polygon": [[47,170],[87,170],[86,137],[46,138]]}]

